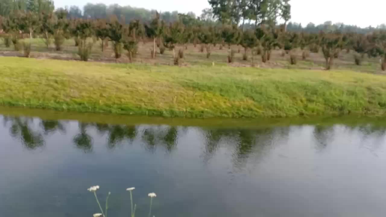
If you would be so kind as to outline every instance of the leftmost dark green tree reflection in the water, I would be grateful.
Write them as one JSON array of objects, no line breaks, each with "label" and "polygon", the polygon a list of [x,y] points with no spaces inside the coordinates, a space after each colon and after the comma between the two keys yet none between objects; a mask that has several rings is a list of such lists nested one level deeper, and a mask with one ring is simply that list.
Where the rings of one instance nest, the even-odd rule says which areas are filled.
[{"label": "leftmost dark green tree reflection in the water", "polygon": [[24,117],[8,117],[6,121],[11,122],[10,135],[20,139],[28,149],[36,149],[44,146],[44,138],[38,131],[34,131],[33,119]]}]

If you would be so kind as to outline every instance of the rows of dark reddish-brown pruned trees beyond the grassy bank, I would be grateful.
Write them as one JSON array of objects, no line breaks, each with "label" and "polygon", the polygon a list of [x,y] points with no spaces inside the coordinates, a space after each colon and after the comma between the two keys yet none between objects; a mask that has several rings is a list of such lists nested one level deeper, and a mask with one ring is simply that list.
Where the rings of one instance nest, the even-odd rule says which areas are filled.
[{"label": "rows of dark reddish-brown pruned trees beyond the grassy bank", "polygon": [[[227,46],[229,49],[228,61],[234,59],[235,50],[232,45],[244,48],[243,59],[247,60],[251,55],[254,64],[255,55],[261,55],[261,61],[271,59],[273,49],[283,49],[283,55],[289,53],[291,64],[296,64],[297,59],[294,50],[303,50],[303,59],[308,58],[309,52],[318,53],[322,50],[326,60],[326,68],[330,69],[334,58],[343,49],[356,51],[355,63],[361,64],[364,56],[382,56],[382,69],[386,67],[386,31],[377,30],[368,34],[319,32],[297,33],[286,32],[285,25],[280,27],[261,24],[254,29],[243,31],[237,24],[211,25],[208,22],[195,19],[189,15],[179,14],[176,22],[166,23],[156,13],[150,21],[143,23],[132,20],[128,24],[116,16],[110,19],[68,19],[66,10],[56,10],[51,13],[32,13],[15,11],[8,17],[2,18],[2,28],[6,32],[5,44],[14,44],[15,50],[20,49],[19,39],[29,37],[41,37],[49,46],[52,41],[56,50],[63,48],[65,39],[74,38],[78,46],[78,54],[83,61],[87,61],[93,44],[101,40],[101,49],[110,41],[115,58],[120,58],[122,51],[127,51],[127,56],[132,61],[138,49],[138,43],[151,39],[153,46],[151,57],[163,54],[168,48],[173,51],[174,64],[184,56],[186,44],[201,44],[200,51],[206,51],[210,58],[212,47],[217,44],[219,49]],[[92,40],[91,40],[92,39]],[[25,56],[29,56],[30,44],[23,43]],[[176,48],[179,47],[178,51]],[[234,47],[234,46],[233,46]],[[159,49],[159,52],[156,49]],[[240,51],[237,51],[240,52]]]}]

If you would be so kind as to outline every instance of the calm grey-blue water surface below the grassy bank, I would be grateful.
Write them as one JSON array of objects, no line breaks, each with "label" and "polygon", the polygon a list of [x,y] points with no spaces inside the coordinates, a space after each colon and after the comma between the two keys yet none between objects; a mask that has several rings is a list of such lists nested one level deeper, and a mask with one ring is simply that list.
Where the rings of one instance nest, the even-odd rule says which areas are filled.
[{"label": "calm grey-blue water surface below the grassy bank", "polygon": [[0,116],[0,216],[383,217],[386,128],[111,125]]}]

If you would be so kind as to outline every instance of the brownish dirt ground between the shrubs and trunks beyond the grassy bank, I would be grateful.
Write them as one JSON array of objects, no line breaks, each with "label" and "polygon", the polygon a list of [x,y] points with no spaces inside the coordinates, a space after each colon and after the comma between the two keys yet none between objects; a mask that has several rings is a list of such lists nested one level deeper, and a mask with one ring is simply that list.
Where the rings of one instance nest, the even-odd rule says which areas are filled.
[{"label": "brownish dirt ground between the shrubs and trunks beyond the grassy bank", "polygon": [[[159,53],[159,48],[156,48],[156,58],[153,59],[151,55],[151,49],[153,47],[152,42],[140,42],[138,45],[138,53],[134,58],[134,63],[146,63],[146,64],[164,64],[173,65],[173,51],[165,49],[164,54]],[[233,67],[251,67],[252,55],[251,51],[247,51],[248,60],[243,60],[242,56],[244,48],[241,46],[233,45],[231,49],[235,51],[234,61],[228,63],[228,55],[230,50],[228,46],[222,47],[217,44],[215,47],[211,47],[211,55],[207,58],[206,51],[200,52],[200,44],[194,46],[193,44],[179,45],[175,48],[176,55],[178,50],[181,49],[184,53],[183,58],[179,60],[179,66],[194,66],[194,65],[229,65]],[[73,39],[68,39],[64,42],[62,51],[56,51],[53,44],[47,47],[44,44],[43,39],[32,39],[31,58],[44,58],[44,59],[62,59],[62,60],[80,60],[78,54],[78,48],[75,46]],[[300,49],[296,49],[293,53],[297,56],[297,64],[291,65],[289,63],[289,54],[285,54],[283,50],[275,49],[271,53],[271,59],[266,63],[262,63],[260,55],[254,55],[254,67],[262,68],[289,68],[289,69],[324,69],[325,59],[321,52],[310,53],[310,56],[305,60],[302,59],[302,52]],[[91,56],[88,61],[97,61],[105,63],[129,63],[127,52],[123,50],[122,57],[119,59],[114,58],[111,43],[102,52],[101,41],[94,42],[91,51]],[[284,55],[283,55],[284,54]],[[0,56],[23,56],[23,51],[14,51],[14,47],[5,47],[4,43],[0,43]],[[340,70],[353,70],[366,73],[382,73],[380,69],[378,58],[365,57],[361,66],[354,64],[354,53],[350,51],[347,53],[345,50],[341,51],[339,57],[334,59],[335,69]]]}]

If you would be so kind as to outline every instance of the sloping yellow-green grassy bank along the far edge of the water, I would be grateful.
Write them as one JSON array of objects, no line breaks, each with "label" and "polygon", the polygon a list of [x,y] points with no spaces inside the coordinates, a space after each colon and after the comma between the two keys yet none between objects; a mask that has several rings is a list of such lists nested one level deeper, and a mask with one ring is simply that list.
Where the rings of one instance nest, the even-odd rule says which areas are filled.
[{"label": "sloping yellow-green grassy bank along the far edge of the water", "polygon": [[164,117],[383,115],[386,77],[353,71],[0,58],[0,105]]}]

